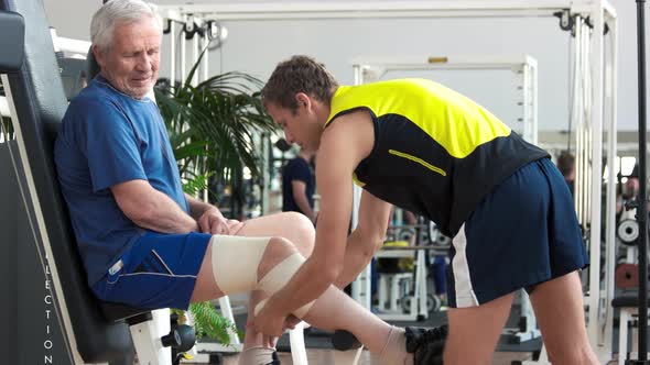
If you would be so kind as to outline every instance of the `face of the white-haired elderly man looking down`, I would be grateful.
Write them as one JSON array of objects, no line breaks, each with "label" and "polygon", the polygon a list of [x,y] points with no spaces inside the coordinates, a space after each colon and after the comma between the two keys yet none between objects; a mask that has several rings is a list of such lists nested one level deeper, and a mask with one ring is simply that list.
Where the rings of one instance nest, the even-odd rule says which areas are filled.
[{"label": "face of the white-haired elderly man looking down", "polygon": [[101,75],[118,90],[143,98],[158,79],[161,29],[155,19],[116,24],[108,49],[95,49]]}]

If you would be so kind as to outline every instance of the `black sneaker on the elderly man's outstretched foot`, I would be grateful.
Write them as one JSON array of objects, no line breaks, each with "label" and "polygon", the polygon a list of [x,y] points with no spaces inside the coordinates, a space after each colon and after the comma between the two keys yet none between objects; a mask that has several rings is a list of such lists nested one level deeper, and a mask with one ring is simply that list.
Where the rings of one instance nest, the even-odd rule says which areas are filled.
[{"label": "black sneaker on the elderly man's outstretched foot", "polygon": [[407,327],[407,352],[413,354],[415,365],[442,365],[447,325],[434,329]]}]

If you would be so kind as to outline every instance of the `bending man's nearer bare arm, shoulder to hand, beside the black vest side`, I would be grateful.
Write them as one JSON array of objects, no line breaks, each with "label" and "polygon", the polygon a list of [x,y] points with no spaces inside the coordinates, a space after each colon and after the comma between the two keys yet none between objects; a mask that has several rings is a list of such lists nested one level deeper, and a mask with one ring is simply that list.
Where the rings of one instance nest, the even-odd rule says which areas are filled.
[{"label": "bending man's nearer bare arm, shoulder to hand, beside the black vest side", "polygon": [[316,164],[321,211],[314,252],[269,299],[264,310],[280,316],[291,313],[318,298],[343,272],[351,214],[351,176],[372,150],[372,122],[366,111],[342,115],[324,132]]}]

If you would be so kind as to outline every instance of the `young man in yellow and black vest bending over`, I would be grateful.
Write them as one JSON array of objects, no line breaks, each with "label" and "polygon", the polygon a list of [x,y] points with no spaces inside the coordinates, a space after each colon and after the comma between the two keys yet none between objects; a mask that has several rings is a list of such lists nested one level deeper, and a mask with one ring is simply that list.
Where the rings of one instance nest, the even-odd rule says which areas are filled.
[{"label": "young man in yellow and black vest bending over", "polygon": [[[338,86],[306,56],[278,65],[262,90],[288,142],[318,151],[321,210],[312,256],[256,317],[283,318],[343,287],[382,244],[390,204],[453,237],[444,363],[489,364],[526,288],[554,364],[596,364],[577,270],[587,265],[568,189],[546,152],[472,100],[430,80]],[[364,188],[347,235],[353,179]]]}]

